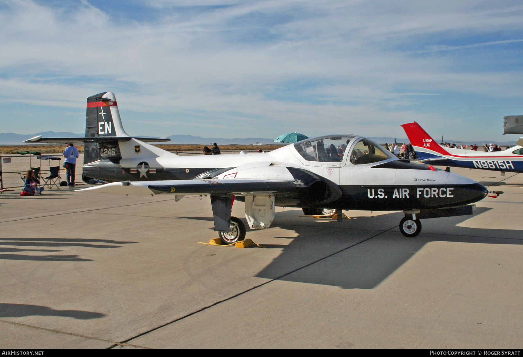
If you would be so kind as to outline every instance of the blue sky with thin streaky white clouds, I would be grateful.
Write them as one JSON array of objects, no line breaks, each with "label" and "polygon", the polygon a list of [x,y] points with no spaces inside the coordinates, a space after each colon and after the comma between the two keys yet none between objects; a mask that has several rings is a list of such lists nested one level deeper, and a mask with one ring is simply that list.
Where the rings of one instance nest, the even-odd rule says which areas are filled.
[{"label": "blue sky with thin streaky white clouds", "polygon": [[0,0],[2,132],[502,136],[523,114],[520,1]]}]

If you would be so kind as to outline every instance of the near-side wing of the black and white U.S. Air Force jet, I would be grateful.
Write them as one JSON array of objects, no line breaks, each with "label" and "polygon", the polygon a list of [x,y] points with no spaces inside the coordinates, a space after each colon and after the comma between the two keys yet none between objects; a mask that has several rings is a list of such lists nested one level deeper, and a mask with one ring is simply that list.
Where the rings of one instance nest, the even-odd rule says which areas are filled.
[{"label": "near-side wing of the black and white U.S. Air Force jet", "polygon": [[116,193],[125,195],[157,195],[172,193],[175,195],[226,195],[248,196],[261,193],[285,193],[297,188],[305,188],[300,180],[271,179],[215,179],[215,180],[172,180],[172,181],[136,181],[113,182],[78,191]]}]

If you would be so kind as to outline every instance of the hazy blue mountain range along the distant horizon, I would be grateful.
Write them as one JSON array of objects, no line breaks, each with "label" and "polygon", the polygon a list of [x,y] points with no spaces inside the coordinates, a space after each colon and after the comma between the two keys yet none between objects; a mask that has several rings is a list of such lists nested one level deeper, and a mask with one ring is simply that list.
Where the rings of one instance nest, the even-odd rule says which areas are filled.
[{"label": "hazy blue mountain range along the distant horizon", "polygon": [[[35,134],[28,134],[28,135],[22,135],[22,134],[15,134],[13,132],[7,132],[7,133],[0,133],[0,145],[20,145],[24,144],[24,140],[31,139],[33,137],[36,137],[38,135],[41,135],[42,137],[48,137],[48,138],[66,138],[66,137],[83,137],[84,134],[76,134],[74,132],[66,132],[66,131],[60,131],[60,132],[54,132],[54,131],[43,131],[43,132],[37,132]],[[192,135],[171,135],[169,136],[171,141],[166,142],[166,144],[204,144],[208,145],[213,142],[218,143],[218,145],[226,145],[226,144],[242,144],[242,145],[248,145],[248,144],[255,144],[263,143],[263,144],[278,144],[274,141],[274,139],[269,138],[233,138],[233,139],[226,139],[226,138],[203,138],[199,136],[192,136]],[[378,143],[392,143],[394,142],[394,139],[397,143],[409,143],[408,139],[404,138],[388,138],[388,137],[369,137],[369,139],[374,140]],[[508,139],[508,138],[507,138]],[[519,139],[519,137],[514,136],[513,141],[504,141],[504,142],[498,142],[498,141],[491,141],[491,140],[476,140],[476,141],[462,141],[460,143],[463,143],[465,145],[470,144],[476,144],[478,146],[481,146],[481,144],[498,144],[503,146],[508,145],[514,145],[514,143]],[[447,140],[445,140],[447,142]],[[457,140],[448,140],[449,142],[457,141]]]}]

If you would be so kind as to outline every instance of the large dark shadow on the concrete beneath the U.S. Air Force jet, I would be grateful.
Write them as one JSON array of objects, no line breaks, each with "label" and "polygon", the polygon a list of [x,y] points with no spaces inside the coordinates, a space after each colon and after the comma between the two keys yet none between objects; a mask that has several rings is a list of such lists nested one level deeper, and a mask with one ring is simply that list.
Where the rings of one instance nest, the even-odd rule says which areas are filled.
[{"label": "large dark shadow on the concrete beneath the U.S. Air Force jet", "polygon": [[[477,208],[475,215],[490,209]],[[288,237],[292,239],[288,245],[275,246],[283,248],[281,254],[261,270],[257,277],[332,285],[346,289],[372,289],[430,242],[523,244],[521,230],[457,227],[471,216],[434,218],[430,224],[428,220],[422,220],[422,224],[427,222],[426,226],[432,228],[433,233],[430,230],[425,233],[422,231],[418,237],[406,238],[397,228],[397,222],[403,213],[344,220],[341,224],[336,221],[324,222],[325,224],[320,226],[315,222],[307,226],[291,225],[289,218],[295,215],[295,211],[276,215],[272,227],[292,230],[298,233],[298,236]],[[368,221],[367,224],[365,220]],[[358,224],[355,225],[355,222]],[[441,227],[440,232],[434,232],[434,224]],[[454,226],[452,231],[446,228],[450,226]],[[370,237],[373,238],[368,239]],[[344,248],[348,249],[336,253]],[[322,260],[329,254],[333,255]],[[313,263],[315,261],[317,262]],[[313,264],[299,269],[310,263]],[[285,275],[295,269],[299,270]]]}]

